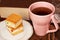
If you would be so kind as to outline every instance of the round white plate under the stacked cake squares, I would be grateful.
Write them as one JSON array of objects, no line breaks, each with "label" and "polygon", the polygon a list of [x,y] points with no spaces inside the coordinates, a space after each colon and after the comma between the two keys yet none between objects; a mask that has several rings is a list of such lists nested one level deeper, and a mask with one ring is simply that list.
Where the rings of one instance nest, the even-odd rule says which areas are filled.
[{"label": "round white plate under the stacked cake squares", "polygon": [[24,32],[18,35],[11,35],[7,30],[5,21],[0,23],[0,40],[28,40],[33,34],[33,28],[29,22],[23,20]]}]

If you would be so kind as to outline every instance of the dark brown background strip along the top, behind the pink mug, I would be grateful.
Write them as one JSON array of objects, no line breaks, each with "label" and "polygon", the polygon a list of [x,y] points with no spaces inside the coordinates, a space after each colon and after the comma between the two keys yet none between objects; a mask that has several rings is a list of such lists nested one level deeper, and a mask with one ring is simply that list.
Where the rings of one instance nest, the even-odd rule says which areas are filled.
[{"label": "dark brown background strip along the top, behind the pink mug", "polygon": [[55,6],[58,6],[58,4],[60,4],[60,0],[0,0],[0,6],[28,8],[31,3],[37,1],[47,1],[54,4]]}]

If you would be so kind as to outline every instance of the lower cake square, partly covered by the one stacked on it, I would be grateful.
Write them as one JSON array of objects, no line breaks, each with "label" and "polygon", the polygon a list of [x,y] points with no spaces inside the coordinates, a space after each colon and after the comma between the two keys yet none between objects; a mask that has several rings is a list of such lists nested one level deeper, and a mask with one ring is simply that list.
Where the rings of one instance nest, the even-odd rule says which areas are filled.
[{"label": "lower cake square, partly covered by the one stacked on it", "polygon": [[9,30],[9,32],[12,34],[12,35],[17,35],[21,32],[23,32],[23,25],[20,24],[17,28],[11,28],[11,27],[7,27],[7,29]]}]

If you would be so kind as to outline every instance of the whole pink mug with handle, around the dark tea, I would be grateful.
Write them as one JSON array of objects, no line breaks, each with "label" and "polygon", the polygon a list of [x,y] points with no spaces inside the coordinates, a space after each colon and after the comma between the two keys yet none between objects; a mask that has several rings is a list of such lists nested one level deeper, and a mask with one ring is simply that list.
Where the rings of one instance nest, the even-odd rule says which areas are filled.
[{"label": "whole pink mug with handle, around the dark tea", "polygon": [[[32,10],[39,8],[39,7],[48,8],[51,10],[51,13],[50,14],[45,13],[46,15],[34,14],[34,12],[32,12]],[[41,10],[41,9],[39,9],[39,10]],[[48,2],[44,2],[44,1],[35,2],[29,6],[29,16],[30,16],[30,19],[32,20],[34,30],[37,35],[45,36],[48,33],[56,32],[58,30],[58,24],[57,24],[56,19],[54,18],[54,12],[55,12],[54,5],[52,5],[51,3],[48,3]],[[41,13],[39,13],[39,14],[41,14]],[[49,30],[51,20],[53,21],[56,29]]]}]

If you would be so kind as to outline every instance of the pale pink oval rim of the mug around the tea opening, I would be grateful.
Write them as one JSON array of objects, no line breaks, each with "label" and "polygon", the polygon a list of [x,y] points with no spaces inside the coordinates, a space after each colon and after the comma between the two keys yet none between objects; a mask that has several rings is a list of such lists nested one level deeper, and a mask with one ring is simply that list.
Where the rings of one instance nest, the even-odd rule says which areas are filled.
[{"label": "pale pink oval rim of the mug around the tea opening", "polygon": [[[31,7],[32,7],[35,3],[40,3],[40,2],[41,2],[41,3],[46,3],[46,4],[48,3],[48,4],[50,4],[54,10],[52,10],[52,12],[51,12],[50,14],[44,15],[44,16],[36,15],[36,14],[32,13],[32,12],[31,12]],[[53,15],[53,13],[55,12],[55,6],[54,6],[53,4],[51,4],[51,3],[49,3],[49,2],[46,2],[46,1],[34,2],[34,3],[32,3],[32,4],[29,6],[29,12],[30,12],[32,15],[35,15],[35,16],[38,16],[38,17],[45,17],[45,16]]]}]

